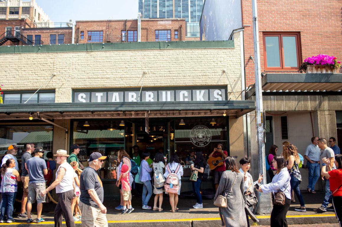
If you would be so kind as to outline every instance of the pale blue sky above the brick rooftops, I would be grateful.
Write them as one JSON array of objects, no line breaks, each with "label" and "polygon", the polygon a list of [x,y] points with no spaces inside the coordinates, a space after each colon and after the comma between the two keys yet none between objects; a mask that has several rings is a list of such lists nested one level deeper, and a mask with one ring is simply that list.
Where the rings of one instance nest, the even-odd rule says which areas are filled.
[{"label": "pale blue sky above the brick rooftops", "polygon": [[138,0],[36,0],[53,22],[135,19]]}]

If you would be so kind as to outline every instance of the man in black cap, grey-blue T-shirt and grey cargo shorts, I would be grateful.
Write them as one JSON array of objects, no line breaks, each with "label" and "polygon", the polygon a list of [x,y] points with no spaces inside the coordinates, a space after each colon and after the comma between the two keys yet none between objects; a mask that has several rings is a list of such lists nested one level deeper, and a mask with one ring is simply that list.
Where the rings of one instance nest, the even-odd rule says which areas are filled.
[{"label": "man in black cap, grey-blue T-shirt and grey cargo shorts", "polygon": [[41,196],[40,192],[45,190],[44,175],[48,174],[48,169],[43,158],[44,149],[42,147],[36,147],[35,156],[26,161],[26,167],[29,176],[28,182],[28,196],[27,196],[27,223],[33,222],[31,219],[32,203],[37,200],[37,223],[44,222],[41,218],[43,202],[45,202],[46,196]]}]

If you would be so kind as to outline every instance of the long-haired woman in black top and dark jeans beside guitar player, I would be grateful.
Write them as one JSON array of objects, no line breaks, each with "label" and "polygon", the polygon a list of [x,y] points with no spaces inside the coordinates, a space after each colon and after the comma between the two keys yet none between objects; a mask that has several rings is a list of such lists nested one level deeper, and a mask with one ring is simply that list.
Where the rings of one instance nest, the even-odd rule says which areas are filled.
[{"label": "long-haired woman in black top and dark jeans beside guitar player", "polygon": [[196,153],[195,153],[195,166],[191,167],[191,171],[193,171],[193,170],[198,171],[197,181],[192,182],[193,191],[194,191],[194,194],[196,195],[196,198],[197,198],[197,202],[193,206],[193,208],[195,208],[195,209],[203,208],[202,195],[200,192],[200,187],[201,187],[202,176],[203,176],[203,172],[204,172],[204,166],[205,166],[205,160],[204,160],[202,151],[196,151]]}]

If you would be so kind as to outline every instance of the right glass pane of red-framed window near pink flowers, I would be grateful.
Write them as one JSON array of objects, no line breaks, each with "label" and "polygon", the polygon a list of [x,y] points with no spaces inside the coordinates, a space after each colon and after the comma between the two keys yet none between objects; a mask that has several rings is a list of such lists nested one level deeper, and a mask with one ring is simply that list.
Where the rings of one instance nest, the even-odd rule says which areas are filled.
[{"label": "right glass pane of red-framed window near pink flowers", "polygon": [[295,36],[282,36],[285,67],[298,67]]}]

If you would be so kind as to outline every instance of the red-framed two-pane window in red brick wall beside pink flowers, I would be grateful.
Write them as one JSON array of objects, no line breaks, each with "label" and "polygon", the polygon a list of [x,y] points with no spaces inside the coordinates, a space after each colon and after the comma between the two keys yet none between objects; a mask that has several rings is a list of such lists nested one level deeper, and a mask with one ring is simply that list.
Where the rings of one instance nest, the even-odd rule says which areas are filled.
[{"label": "red-framed two-pane window in red brick wall beside pink flowers", "polygon": [[297,70],[300,64],[298,33],[263,33],[265,70]]}]

